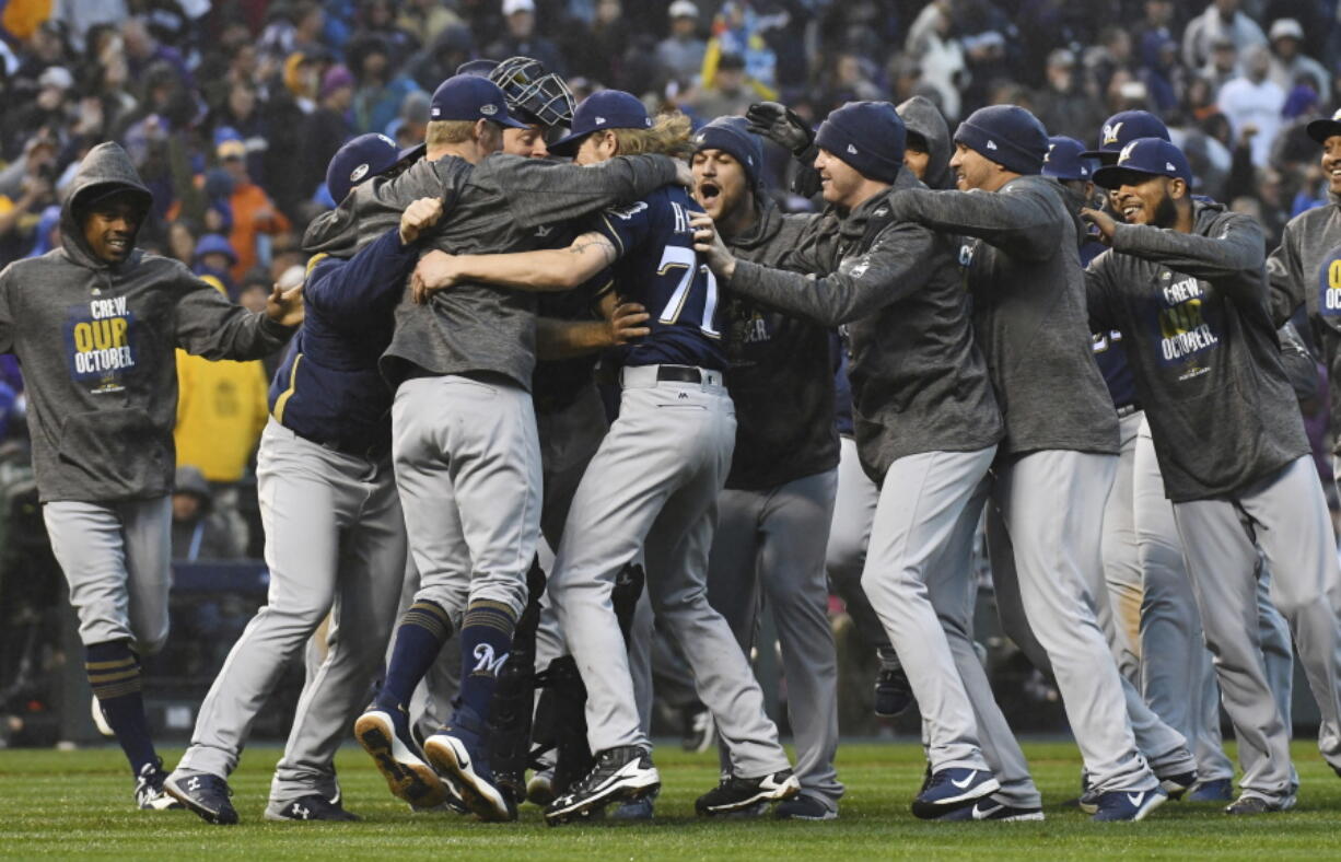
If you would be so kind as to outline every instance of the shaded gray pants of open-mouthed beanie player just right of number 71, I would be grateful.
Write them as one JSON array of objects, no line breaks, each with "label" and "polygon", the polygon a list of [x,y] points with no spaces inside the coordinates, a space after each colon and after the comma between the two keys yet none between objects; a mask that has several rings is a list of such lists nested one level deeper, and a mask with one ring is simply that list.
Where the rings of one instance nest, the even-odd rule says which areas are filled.
[{"label": "shaded gray pants of open-mouthed beanie player just right of number 71", "polygon": [[[830,469],[768,491],[723,491],[708,558],[708,603],[746,654],[754,646],[760,605],[772,609],[797,779],[801,792],[829,808],[838,807],[843,791],[834,769],[838,656],[823,559],[837,484],[837,469]],[[721,761],[728,769],[725,747]]]}]

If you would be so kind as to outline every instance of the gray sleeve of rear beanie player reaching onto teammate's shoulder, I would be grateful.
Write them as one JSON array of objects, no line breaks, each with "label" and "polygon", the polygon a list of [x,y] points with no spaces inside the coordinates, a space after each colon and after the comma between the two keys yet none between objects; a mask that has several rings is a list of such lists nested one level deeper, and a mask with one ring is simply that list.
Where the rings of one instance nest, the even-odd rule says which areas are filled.
[{"label": "gray sleeve of rear beanie player reaching onto teammate's shoulder", "polygon": [[979,237],[1026,260],[1046,260],[1061,244],[1061,208],[1050,206],[1043,192],[1027,186],[1000,192],[904,189],[890,197],[890,204],[901,220]]}]

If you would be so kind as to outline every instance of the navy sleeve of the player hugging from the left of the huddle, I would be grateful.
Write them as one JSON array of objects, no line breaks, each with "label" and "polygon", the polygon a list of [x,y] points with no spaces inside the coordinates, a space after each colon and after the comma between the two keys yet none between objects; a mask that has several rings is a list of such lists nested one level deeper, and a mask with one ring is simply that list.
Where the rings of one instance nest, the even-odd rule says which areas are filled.
[{"label": "navy sleeve of the player hugging from the left of the huddle", "polygon": [[314,259],[303,299],[334,320],[358,323],[389,295],[404,292],[418,252],[414,244],[401,245],[400,232],[388,231],[349,260]]}]

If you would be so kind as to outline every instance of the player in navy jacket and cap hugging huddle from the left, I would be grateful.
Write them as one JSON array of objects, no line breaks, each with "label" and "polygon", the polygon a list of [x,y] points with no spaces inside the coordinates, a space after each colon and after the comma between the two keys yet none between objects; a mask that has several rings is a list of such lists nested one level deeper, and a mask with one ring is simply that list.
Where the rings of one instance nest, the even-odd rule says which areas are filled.
[{"label": "player in navy jacket and cap hugging huddle from the left", "polygon": [[[326,170],[333,197],[404,165],[396,145],[365,134]],[[418,260],[416,240],[441,217],[416,201],[400,225],[349,260],[308,264],[304,326],[271,386],[256,456],[270,594],[209,689],[192,745],[166,790],[209,823],[236,823],[227,776],[288,661],[331,615],[329,652],[298,700],[266,818],[357,819],[337,800],[335,751],[378,672],[405,568],[405,526],[392,475],[392,393],[377,359]],[[421,800],[437,804],[436,796]]]}]

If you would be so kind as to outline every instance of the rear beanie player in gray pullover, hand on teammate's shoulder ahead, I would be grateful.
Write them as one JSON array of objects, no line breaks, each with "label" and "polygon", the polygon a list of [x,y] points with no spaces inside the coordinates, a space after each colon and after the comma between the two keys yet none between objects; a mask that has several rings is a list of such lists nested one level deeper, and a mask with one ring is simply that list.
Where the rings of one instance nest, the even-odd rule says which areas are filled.
[{"label": "rear beanie player in gray pullover, hand on teammate's shoulder ahead", "polygon": [[[1047,135],[1025,109],[975,111],[955,146],[960,192],[905,189],[890,209],[975,239],[966,253],[974,331],[1006,420],[991,484],[1004,531],[988,531],[998,552],[1003,542],[1012,547],[1015,564],[992,567],[1003,619],[1022,611],[1047,654],[1090,775],[1094,818],[1140,820],[1168,794],[1136,747],[1088,598],[1102,567],[1117,417],[1089,355],[1075,220],[1058,186],[1037,176]],[[1067,393],[1067,410],[1055,409],[1057,393]]]}]

